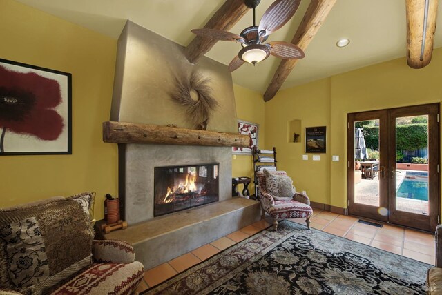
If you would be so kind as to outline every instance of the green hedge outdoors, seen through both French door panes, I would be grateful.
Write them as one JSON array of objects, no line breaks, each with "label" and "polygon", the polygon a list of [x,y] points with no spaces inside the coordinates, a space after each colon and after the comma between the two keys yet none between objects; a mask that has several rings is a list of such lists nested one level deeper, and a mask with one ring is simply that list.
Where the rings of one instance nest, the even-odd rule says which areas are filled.
[{"label": "green hedge outdoors, seen through both French door panes", "polygon": [[[379,127],[364,126],[362,130],[367,148],[379,150]],[[428,125],[407,124],[396,127],[396,150],[419,150],[428,146]]]}]

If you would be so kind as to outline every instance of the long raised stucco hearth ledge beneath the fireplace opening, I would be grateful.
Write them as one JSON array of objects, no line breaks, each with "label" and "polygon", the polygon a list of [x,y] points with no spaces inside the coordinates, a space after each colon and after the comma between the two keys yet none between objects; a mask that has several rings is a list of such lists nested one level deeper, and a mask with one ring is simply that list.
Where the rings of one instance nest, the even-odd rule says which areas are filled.
[{"label": "long raised stucco hearth ledge beneath the fireplace opening", "polygon": [[129,225],[104,239],[131,243],[150,269],[260,220],[260,202],[234,197]]}]

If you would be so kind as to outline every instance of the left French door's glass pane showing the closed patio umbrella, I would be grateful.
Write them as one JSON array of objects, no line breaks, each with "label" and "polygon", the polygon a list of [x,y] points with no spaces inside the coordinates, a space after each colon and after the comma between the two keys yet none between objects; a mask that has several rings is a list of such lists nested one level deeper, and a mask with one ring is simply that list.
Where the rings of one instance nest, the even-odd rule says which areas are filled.
[{"label": "left French door's glass pane showing the closed patio umbrella", "polygon": [[354,203],[379,207],[379,120],[354,123]]}]

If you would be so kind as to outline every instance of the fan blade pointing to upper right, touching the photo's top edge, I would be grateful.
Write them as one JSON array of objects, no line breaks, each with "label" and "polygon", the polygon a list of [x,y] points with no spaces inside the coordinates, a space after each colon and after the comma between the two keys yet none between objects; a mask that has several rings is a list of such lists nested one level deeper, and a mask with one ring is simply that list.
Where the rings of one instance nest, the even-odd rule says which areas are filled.
[{"label": "fan blade pointing to upper right, touching the photo's top edge", "polygon": [[261,31],[264,31],[263,36],[267,36],[284,26],[294,16],[300,2],[300,0],[276,0],[273,2],[262,15],[258,32],[261,34]]}]

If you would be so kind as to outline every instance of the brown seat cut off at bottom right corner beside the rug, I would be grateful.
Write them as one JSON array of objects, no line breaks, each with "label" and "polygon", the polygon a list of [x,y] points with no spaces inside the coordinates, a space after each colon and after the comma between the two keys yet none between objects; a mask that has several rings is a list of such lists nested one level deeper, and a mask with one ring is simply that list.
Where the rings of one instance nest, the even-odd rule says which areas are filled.
[{"label": "brown seat cut off at bottom right corner beside the rug", "polygon": [[442,225],[436,227],[436,267],[428,269],[427,294],[442,294]]}]

